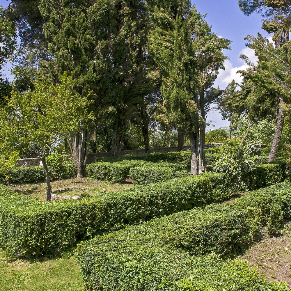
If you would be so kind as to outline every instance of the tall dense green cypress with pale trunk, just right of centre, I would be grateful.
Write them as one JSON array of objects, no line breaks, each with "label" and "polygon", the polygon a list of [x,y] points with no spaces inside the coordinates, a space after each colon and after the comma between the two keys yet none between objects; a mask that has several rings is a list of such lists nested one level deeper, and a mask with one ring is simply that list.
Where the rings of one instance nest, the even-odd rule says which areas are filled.
[{"label": "tall dense green cypress with pale trunk, just right of centre", "polygon": [[191,174],[198,175],[199,116],[196,27],[201,15],[191,3],[172,3],[170,10],[155,8],[155,29],[149,39],[149,52],[162,74],[162,95],[170,119],[182,127],[191,142]]}]

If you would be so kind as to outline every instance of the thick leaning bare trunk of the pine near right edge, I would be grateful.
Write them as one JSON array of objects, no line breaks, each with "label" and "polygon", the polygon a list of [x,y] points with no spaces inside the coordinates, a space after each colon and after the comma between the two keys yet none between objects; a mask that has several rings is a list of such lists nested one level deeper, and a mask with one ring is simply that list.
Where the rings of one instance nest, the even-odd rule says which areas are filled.
[{"label": "thick leaning bare trunk of the pine near right edge", "polygon": [[276,123],[274,139],[273,139],[271,149],[269,152],[268,163],[275,161],[276,155],[278,152],[278,148],[279,148],[279,144],[281,141],[281,135],[282,135],[282,130],[283,130],[283,126],[284,126],[284,118],[285,118],[285,112],[284,112],[281,104],[284,104],[284,101],[283,101],[283,98],[280,96],[278,119],[277,119],[277,123]]}]

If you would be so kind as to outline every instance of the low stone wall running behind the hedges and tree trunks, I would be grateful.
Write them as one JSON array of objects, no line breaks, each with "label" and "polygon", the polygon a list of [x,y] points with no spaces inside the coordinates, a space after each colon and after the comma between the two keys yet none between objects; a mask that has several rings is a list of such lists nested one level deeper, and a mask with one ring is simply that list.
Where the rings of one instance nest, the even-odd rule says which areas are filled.
[{"label": "low stone wall running behind the hedges and tree trunks", "polygon": [[[217,148],[220,145],[225,145],[226,143],[208,143],[205,144],[205,148]],[[184,146],[184,150],[190,150],[190,146]],[[151,148],[150,153],[152,152],[176,152],[177,147],[168,147],[168,148]],[[118,156],[131,154],[131,155],[144,155],[144,150],[121,150],[118,152]],[[68,158],[70,156],[67,156]],[[95,152],[88,154],[87,164],[91,164],[95,162],[96,157],[111,157],[111,152]],[[39,166],[41,159],[39,158],[31,158],[31,159],[19,159],[16,163],[17,167],[31,167],[31,166]]]}]

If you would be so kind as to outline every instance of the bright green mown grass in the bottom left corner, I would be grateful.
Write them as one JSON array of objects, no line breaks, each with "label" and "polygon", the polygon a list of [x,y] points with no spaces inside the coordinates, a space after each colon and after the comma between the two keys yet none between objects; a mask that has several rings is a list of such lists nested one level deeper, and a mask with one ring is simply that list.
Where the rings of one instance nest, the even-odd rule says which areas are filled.
[{"label": "bright green mown grass in the bottom left corner", "polygon": [[1,291],[81,291],[81,270],[75,258],[43,261],[9,260],[0,252]]}]

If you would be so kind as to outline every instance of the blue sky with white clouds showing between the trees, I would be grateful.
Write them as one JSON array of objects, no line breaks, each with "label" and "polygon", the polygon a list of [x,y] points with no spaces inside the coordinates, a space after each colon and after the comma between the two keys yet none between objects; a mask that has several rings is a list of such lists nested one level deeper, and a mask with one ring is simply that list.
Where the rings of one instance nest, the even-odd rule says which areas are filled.
[{"label": "blue sky with white clouds showing between the trees", "polygon": [[[6,7],[9,2],[6,0],[0,0],[0,5]],[[248,34],[256,36],[257,33],[261,33],[263,36],[271,38],[265,31],[261,29],[262,18],[260,15],[245,16],[242,11],[239,10],[238,0],[194,0],[192,4],[196,6],[198,12],[202,15],[207,14],[205,19],[208,25],[212,26],[212,31],[218,36],[228,38],[232,41],[232,50],[225,51],[225,54],[229,59],[225,62],[226,70],[220,72],[215,86],[219,86],[221,89],[225,88],[227,84],[235,79],[237,82],[241,81],[239,74],[236,74],[237,70],[243,70],[246,68],[246,64],[239,56],[245,54],[249,56],[251,60],[255,60],[253,51],[248,49],[245,44],[244,37]],[[7,68],[9,65],[7,66]],[[10,77],[9,72],[5,69],[7,77]],[[213,112],[207,118],[207,121],[212,120],[215,123],[215,128],[228,125],[227,121],[221,120],[221,116],[218,112]],[[214,126],[212,126],[213,128]]]}]

